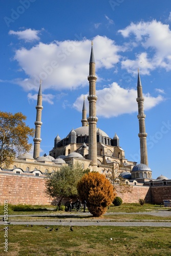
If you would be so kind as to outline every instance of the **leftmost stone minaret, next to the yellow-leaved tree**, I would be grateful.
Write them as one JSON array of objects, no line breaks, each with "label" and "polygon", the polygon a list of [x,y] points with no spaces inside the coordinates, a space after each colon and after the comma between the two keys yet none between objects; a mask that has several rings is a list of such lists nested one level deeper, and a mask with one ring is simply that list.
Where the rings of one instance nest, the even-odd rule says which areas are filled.
[{"label": "leftmost stone minaret, next to the yellow-leaved tree", "polygon": [[41,132],[41,111],[42,111],[42,93],[41,93],[41,80],[40,80],[40,87],[37,95],[37,105],[36,105],[36,121],[35,123],[35,137],[33,139],[34,141],[34,151],[33,151],[33,158],[36,159],[40,155],[40,132]]}]

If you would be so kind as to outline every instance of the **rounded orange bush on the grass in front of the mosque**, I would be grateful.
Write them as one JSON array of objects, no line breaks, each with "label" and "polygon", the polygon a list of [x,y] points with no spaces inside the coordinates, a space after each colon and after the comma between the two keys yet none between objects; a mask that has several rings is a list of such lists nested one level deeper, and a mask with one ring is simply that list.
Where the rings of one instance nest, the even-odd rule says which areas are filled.
[{"label": "rounded orange bush on the grass in front of the mosque", "polygon": [[87,201],[94,217],[103,215],[116,196],[110,181],[96,172],[84,175],[77,184],[77,190],[80,199]]}]

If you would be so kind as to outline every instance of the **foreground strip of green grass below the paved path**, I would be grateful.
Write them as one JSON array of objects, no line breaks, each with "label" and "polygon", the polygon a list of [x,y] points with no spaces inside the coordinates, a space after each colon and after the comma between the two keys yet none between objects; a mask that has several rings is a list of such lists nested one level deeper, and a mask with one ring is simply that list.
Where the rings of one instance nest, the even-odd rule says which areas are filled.
[{"label": "foreground strip of green grass below the paved path", "polygon": [[[171,255],[170,228],[10,225],[7,255]],[[1,238],[4,237],[1,226]],[[3,247],[0,255],[5,255]]]}]

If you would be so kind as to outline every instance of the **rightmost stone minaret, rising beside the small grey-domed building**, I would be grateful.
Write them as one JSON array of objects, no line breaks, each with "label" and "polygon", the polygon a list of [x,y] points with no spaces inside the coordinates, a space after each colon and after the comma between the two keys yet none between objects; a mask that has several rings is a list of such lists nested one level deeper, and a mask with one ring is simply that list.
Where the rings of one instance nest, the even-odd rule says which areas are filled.
[{"label": "rightmost stone minaret, rising beside the small grey-domed building", "polygon": [[141,163],[148,166],[147,158],[147,146],[146,146],[146,136],[145,132],[145,114],[144,114],[144,98],[142,96],[142,86],[138,69],[138,81],[137,81],[137,102],[138,102],[138,120],[139,120],[139,138],[140,138],[140,153],[141,153]]}]

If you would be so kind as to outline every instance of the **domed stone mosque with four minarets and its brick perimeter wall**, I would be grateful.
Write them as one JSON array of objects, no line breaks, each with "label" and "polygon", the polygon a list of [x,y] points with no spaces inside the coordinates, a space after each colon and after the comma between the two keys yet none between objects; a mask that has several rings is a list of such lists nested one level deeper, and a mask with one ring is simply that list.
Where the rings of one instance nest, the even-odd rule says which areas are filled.
[{"label": "domed stone mosque with four minarets and its brick perimeter wall", "polygon": [[[119,177],[122,177],[126,184],[130,184],[133,188],[131,195],[120,194],[118,190],[117,194],[123,199],[123,202],[138,202],[138,199],[142,198],[145,199],[146,202],[161,203],[163,199],[171,199],[171,180],[168,180],[164,176],[158,177],[157,180],[152,179],[152,170],[148,166],[147,133],[145,131],[145,114],[143,108],[144,98],[139,70],[136,100],[138,103],[137,117],[139,121],[138,136],[140,140],[141,162],[138,164],[125,158],[124,150],[119,145],[117,134],[114,134],[114,137],[110,138],[104,131],[99,128],[97,129],[96,79],[95,58],[92,44],[88,76],[89,117],[87,118],[86,104],[85,100],[83,100],[80,127],[72,129],[65,138],[61,139],[59,135],[57,135],[54,138],[54,146],[48,156],[40,156],[41,112],[43,109],[40,81],[36,105],[33,157],[29,154],[19,155],[8,170],[0,167],[0,179],[2,178],[0,190],[2,189],[3,195],[3,184],[5,189],[9,189],[6,182],[7,177],[10,177],[8,182],[11,183],[13,177],[16,176],[15,179],[13,179],[13,183],[17,184],[16,187],[19,187],[19,184],[23,184],[22,187],[27,190],[26,184],[29,184],[28,190],[23,194],[23,203],[27,201],[27,203],[30,202],[32,204],[48,204],[50,201],[45,199],[46,196],[42,195],[44,191],[41,191],[41,189],[44,189],[45,174],[57,172],[62,165],[75,164],[78,162],[83,169],[90,169],[91,171],[104,174],[106,178],[111,180],[112,183],[117,183],[118,186]],[[22,183],[22,179],[19,180],[19,177],[25,177],[25,183]],[[36,181],[41,183],[39,187],[37,187]],[[29,194],[29,189],[31,189],[36,199],[31,196],[26,197],[26,194]],[[23,193],[23,190],[19,191]],[[39,191],[39,197],[37,191]],[[11,194],[10,191],[5,195],[9,196],[9,194]],[[10,198],[14,200],[12,195],[10,195]],[[16,203],[21,203],[20,199],[15,199],[15,201]]]}]

